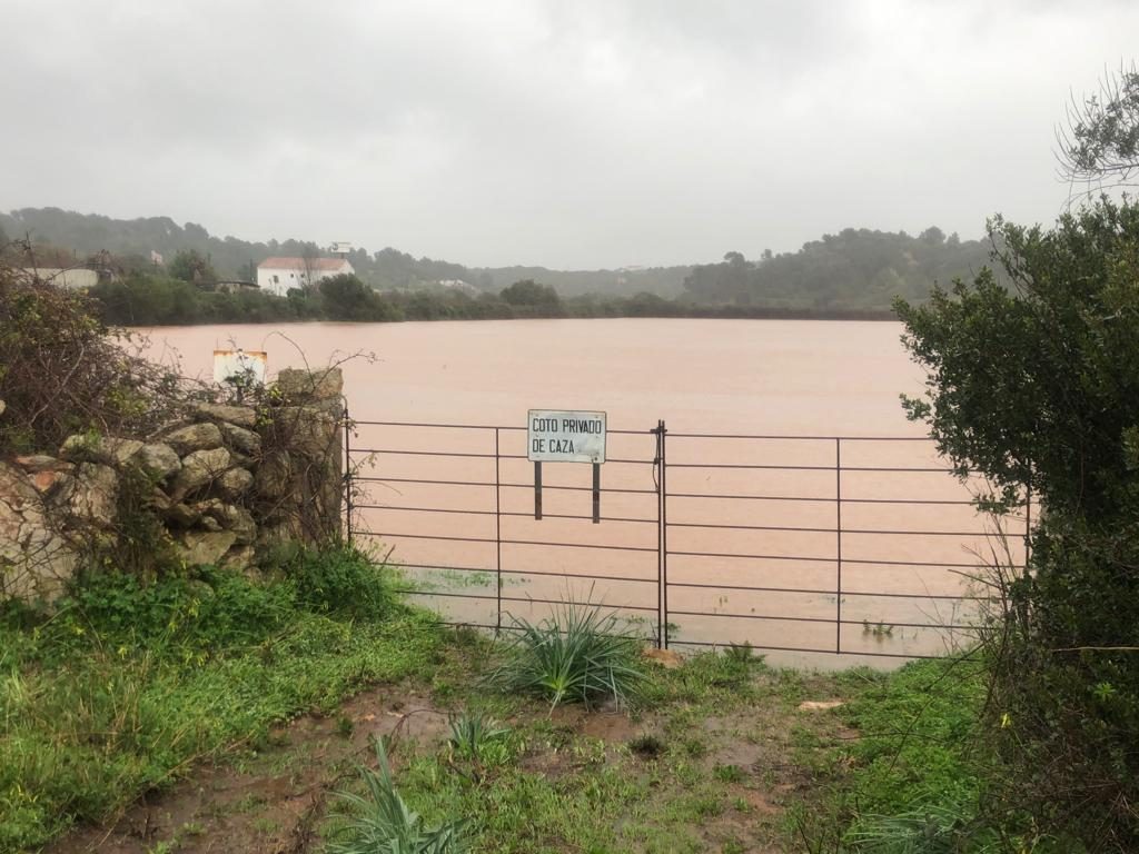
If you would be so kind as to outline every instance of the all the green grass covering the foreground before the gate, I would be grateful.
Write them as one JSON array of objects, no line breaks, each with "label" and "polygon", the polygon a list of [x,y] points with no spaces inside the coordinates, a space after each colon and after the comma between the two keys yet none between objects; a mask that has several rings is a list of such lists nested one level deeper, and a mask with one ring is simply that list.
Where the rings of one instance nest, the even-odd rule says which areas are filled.
[{"label": "all the green grass covering the foreground before the gate", "polygon": [[[351,576],[341,574],[347,586],[357,583]],[[49,622],[14,617],[0,626],[0,849],[32,847],[76,820],[114,818],[195,761],[235,748],[267,754],[249,763],[253,775],[280,773],[288,759],[303,765],[311,745],[274,745],[269,728],[316,709],[330,716],[327,744],[339,745],[329,749],[345,762],[314,770],[330,787],[344,785],[339,771],[354,762],[361,728],[393,739],[385,744],[395,772],[377,757],[349,789],[360,798],[346,799],[352,808],[316,819],[314,839],[333,849],[377,849],[395,838],[420,846],[412,849],[453,846],[448,830],[461,823],[462,839],[487,854],[798,851],[804,843],[808,851],[984,851],[983,786],[966,749],[983,680],[967,663],[888,675],[794,673],[740,647],[666,670],[628,641],[623,666],[638,676],[623,695],[625,715],[598,713],[604,695],[592,692],[592,711],[551,709],[556,690],[544,684],[533,693],[485,690],[494,650],[486,638],[459,631],[449,644],[451,633],[432,617],[398,603],[383,606],[379,618],[353,616],[330,607],[335,594],[302,601],[287,576],[268,586],[226,574],[153,588],[92,582]],[[208,622],[199,625],[203,614]],[[596,616],[585,624],[608,627]],[[548,623],[532,640],[560,643],[568,634]],[[601,642],[613,637],[600,634]],[[550,651],[539,664],[563,657]],[[426,703],[448,715],[449,728],[384,736],[378,721],[339,709],[357,688],[408,675],[417,678],[409,714]],[[562,700],[571,698],[566,689]],[[804,699],[830,698],[846,705],[798,711]],[[401,708],[393,701],[391,711]],[[279,808],[272,786],[264,791],[247,814],[244,802],[235,805],[231,818],[265,837],[287,834],[295,816]],[[788,821],[784,811],[796,804],[798,821]]]}]

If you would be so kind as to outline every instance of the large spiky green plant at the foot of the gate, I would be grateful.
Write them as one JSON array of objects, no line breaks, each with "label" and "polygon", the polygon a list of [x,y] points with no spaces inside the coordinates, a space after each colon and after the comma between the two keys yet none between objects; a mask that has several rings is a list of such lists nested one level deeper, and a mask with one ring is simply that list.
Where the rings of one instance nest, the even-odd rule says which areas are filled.
[{"label": "large spiky green plant at the foot of the gate", "polygon": [[513,623],[517,631],[491,673],[503,689],[542,696],[551,708],[605,699],[621,706],[645,679],[640,641],[620,633],[615,613],[570,602],[536,625],[519,617]]}]

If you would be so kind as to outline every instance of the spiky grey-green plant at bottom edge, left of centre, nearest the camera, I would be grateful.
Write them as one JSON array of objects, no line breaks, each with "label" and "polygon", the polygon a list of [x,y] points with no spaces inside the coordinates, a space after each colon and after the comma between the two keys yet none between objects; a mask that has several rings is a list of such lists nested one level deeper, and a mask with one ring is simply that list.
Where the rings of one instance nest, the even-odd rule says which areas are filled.
[{"label": "spiky grey-green plant at bottom edge, left of centre, nearest the camera", "polygon": [[408,808],[392,782],[392,769],[382,740],[376,740],[378,769],[360,767],[364,795],[337,793],[347,805],[347,838],[328,846],[330,854],[462,854],[466,822],[424,827],[423,816]]}]

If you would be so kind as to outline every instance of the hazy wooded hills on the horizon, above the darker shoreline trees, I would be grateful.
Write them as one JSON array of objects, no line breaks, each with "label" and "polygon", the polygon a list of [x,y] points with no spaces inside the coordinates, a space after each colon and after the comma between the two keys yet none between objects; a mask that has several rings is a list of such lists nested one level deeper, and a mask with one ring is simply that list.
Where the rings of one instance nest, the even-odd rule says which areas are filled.
[{"label": "hazy wooded hills on the horizon, above the darker shoreline trees", "polygon": [[[216,237],[204,227],[180,225],[169,216],[115,220],[56,207],[0,213],[0,239],[31,237],[82,261],[106,252],[126,269],[153,270],[150,253],[167,264],[179,252],[208,257],[222,278],[255,279],[257,263],[273,255],[320,252],[317,244],[288,239],[251,243]],[[932,227],[917,237],[904,232],[845,229],[805,244],[797,252],[764,252],[754,261],[729,252],[722,262],[695,266],[560,271],[533,266],[468,268],[391,247],[347,254],[360,279],[374,288],[431,290],[437,282],[462,280],[484,293],[532,279],[566,297],[584,294],[653,294],[695,306],[771,307],[794,311],[888,310],[894,296],[923,302],[933,284],[968,278],[989,261],[989,245],[961,240]]]}]

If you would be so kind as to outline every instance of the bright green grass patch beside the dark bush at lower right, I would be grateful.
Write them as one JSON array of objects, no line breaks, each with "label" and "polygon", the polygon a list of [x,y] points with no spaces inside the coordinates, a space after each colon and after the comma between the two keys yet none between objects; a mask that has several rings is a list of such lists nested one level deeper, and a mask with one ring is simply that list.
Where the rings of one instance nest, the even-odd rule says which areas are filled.
[{"label": "bright green grass patch beside the dark bush at lower right", "polygon": [[859,736],[827,749],[800,745],[829,775],[825,791],[809,797],[795,818],[808,847],[882,854],[997,849],[991,846],[998,836],[982,811],[981,663],[913,662],[890,674],[855,670],[839,679],[850,700],[836,712]]}]

